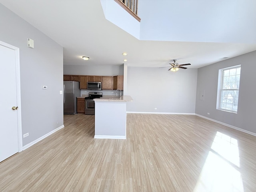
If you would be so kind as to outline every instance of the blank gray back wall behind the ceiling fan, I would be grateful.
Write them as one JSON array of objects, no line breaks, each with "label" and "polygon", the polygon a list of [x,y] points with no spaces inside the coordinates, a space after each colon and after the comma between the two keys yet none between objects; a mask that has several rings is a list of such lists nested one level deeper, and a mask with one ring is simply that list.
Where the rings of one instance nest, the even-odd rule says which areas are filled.
[{"label": "blank gray back wall behind the ceiling fan", "polygon": [[[128,67],[128,112],[195,113],[197,69]],[[154,108],[157,108],[156,110]]]}]

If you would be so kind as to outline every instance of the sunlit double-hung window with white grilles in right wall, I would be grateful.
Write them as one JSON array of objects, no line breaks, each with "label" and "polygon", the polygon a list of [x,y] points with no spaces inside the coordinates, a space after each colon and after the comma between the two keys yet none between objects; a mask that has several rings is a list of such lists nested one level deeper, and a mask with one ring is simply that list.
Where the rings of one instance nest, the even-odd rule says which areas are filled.
[{"label": "sunlit double-hung window with white grilles in right wall", "polygon": [[241,65],[219,70],[217,109],[237,112]]}]

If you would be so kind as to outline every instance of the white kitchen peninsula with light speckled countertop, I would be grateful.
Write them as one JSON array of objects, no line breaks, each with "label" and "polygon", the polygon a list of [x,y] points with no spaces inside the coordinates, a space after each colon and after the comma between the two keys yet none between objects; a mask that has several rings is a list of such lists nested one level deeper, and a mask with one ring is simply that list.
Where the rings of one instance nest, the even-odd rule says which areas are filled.
[{"label": "white kitchen peninsula with light speckled countertop", "polygon": [[100,139],[126,139],[126,102],[131,96],[95,98],[95,135]]}]

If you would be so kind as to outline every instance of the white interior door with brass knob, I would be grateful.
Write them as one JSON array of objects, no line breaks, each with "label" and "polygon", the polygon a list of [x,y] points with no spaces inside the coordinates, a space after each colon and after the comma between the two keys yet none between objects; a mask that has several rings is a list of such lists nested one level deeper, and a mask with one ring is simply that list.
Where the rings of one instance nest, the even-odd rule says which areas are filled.
[{"label": "white interior door with brass knob", "polygon": [[[0,162],[19,151],[15,50],[0,45]],[[14,110],[12,107],[15,107]],[[18,106],[20,107],[20,106]]]}]

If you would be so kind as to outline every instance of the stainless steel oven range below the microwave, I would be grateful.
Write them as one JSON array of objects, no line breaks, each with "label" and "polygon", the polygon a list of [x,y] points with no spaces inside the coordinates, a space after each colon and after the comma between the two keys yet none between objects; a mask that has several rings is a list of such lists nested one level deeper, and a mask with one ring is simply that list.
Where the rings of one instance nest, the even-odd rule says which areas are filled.
[{"label": "stainless steel oven range below the microwave", "polygon": [[95,114],[95,103],[94,98],[102,97],[102,92],[89,92],[89,96],[85,99],[85,109],[84,114],[86,115],[94,115]]}]

